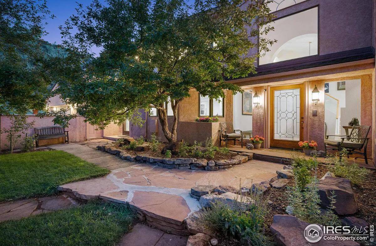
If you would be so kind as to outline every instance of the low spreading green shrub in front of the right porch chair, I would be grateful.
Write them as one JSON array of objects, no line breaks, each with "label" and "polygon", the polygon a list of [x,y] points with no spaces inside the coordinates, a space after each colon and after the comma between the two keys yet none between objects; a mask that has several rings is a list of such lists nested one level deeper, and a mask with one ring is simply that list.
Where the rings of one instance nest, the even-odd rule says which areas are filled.
[{"label": "low spreading green shrub in front of the right porch chair", "polygon": [[341,160],[337,156],[329,157],[329,160],[334,163],[334,165],[330,167],[330,171],[338,177],[347,178],[353,184],[363,183],[365,176],[368,174],[367,169],[360,168],[355,162],[349,163],[347,158],[345,158],[347,154],[347,150],[343,149],[340,151],[340,155],[344,157],[341,158]]}]

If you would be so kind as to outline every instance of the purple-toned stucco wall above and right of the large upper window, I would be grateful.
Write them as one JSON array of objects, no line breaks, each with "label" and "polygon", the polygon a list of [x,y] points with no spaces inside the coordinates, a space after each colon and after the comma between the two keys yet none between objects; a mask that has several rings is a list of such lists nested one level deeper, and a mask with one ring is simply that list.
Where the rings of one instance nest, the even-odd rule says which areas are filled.
[{"label": "purple-toned stucco wall above and right of the large upper window", "polygon": [[308,0],[273,14],[280,18],[318,6],[318,46],[319,55],[323,55],[370,47],[374,44],[371,32],[374,27],[373,2],[371,0]]}]

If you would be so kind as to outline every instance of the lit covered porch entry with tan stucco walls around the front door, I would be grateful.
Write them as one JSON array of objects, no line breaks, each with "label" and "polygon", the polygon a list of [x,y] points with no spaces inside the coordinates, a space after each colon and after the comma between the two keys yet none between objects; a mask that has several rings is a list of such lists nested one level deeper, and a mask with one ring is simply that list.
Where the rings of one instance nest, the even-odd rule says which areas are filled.
[{"label": "lit covered porch entry with tan stucco walls around the front door", "polygon": [[[373,67],[374,60],[369,59],[235,80],[234,83],[252,94],[252,111],[250,116],[245,115],[244,94],[240,99],[235,95],[234,128],[265,137],[263,149],[253,149],[253,153],[288,158],[291,153],[282,149],[301,150],[298,142],[304,140],[315,140],[317,150],[325,151],[325,136],[333,135],[329,138],[341,140],[341,136],[351,131],[349,121],[357,118],[359,125],[370,127],[367,167],[374,167],[376,108]],[[317,100],[312,98],[314,88],[318,90]],[[243,148],[243,151],[248,150]],[[361,165],[364,163],[364,159],[351,159]],[[320,161],[326,162],[324,158]]]}]

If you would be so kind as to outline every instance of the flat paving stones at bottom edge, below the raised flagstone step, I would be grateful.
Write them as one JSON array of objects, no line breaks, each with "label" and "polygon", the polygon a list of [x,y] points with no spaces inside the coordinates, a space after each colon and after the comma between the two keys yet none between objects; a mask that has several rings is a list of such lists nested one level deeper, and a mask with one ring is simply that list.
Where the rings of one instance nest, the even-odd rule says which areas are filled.
[{"label": "flat paving stones at bottom edge, below the raised flagstone step", "polygon": [[188,237],[168,234],[147,225],[137,224],[125,234],[118,246],[186,246]]}]

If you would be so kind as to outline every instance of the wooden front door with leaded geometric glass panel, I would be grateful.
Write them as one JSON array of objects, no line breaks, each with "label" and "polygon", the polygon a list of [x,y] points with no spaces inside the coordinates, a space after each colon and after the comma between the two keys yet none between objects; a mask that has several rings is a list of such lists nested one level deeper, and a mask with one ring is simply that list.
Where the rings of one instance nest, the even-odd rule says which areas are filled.
[{"label": "wooden front door with leaded geometric glass panel", "polygon": [[270,88],[270,147],[297,149],[303,141],[304,85]]}]

